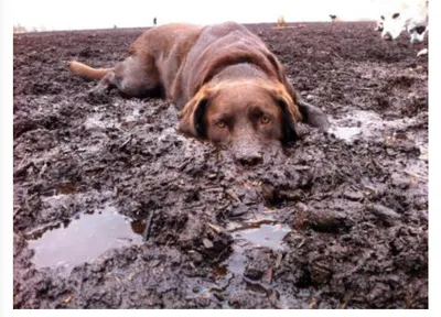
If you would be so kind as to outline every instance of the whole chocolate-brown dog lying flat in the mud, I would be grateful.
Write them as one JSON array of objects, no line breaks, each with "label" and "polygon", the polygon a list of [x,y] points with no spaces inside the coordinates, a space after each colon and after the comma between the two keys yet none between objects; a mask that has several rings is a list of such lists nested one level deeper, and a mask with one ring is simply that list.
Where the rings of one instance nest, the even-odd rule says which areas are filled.
[{"label": "whole chocolate-brown dog lying flat in the mud", "polygon": [[261,161],[270,143],[294,141],[297,123],[327,128],[326,116],[301,101],[279,61],[259,37],[233,22],[147,30],[115,68],[71,62],[74,74],[100,79],[130,97],[161,96],[179,109],[179,130],[230,144],[241,163]]}]

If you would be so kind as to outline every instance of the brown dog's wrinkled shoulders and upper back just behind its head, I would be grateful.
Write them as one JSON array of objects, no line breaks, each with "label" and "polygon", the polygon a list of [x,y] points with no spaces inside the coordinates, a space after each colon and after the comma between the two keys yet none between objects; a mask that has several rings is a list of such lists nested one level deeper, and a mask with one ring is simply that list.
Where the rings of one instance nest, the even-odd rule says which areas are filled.
[{"label": "brown dog's wrinkled shoulders and upper back just behind its head", "polygon": [[[225,22],[201,30],[176,76],[172,99],[176,100],[178,106],[185,103],[202,85],[223,69],[237,64],[248,64],[252,69],[258,68],[259,72],[252,73],[254,77],[283,78],[283,75],[279,74],[282,72],[281,65],[257,35],[244,25]],[[247,72],[252,70],[243,68],[234,76],[246,76]]]}]

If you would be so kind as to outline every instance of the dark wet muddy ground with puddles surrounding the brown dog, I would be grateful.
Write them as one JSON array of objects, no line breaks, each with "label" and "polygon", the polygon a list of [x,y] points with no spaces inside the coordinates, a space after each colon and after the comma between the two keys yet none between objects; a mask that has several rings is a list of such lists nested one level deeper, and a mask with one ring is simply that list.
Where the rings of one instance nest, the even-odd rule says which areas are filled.
[{"label": "dark wet muddy ground with puddles surrounding the brown dog", "polygon": [[290,26],[248,25],[332,128],[255,167],[67,72],[141,29],[14,35],[13,307],[428,307],[424,46]]}]

